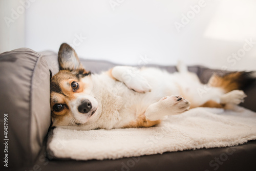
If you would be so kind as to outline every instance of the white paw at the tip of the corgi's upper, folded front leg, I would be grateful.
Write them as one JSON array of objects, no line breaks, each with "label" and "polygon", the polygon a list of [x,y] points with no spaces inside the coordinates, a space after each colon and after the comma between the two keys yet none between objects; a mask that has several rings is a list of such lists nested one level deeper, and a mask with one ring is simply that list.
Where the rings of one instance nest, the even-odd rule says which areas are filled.
[{"label": "white paw at the tip of the corgi's upper, folded front leg", "polygon": [[151,86],[147,80],[139,74],[132,77],[130,80],[124,81],[126,86],[138,93],[146,93],[151,91]]}]

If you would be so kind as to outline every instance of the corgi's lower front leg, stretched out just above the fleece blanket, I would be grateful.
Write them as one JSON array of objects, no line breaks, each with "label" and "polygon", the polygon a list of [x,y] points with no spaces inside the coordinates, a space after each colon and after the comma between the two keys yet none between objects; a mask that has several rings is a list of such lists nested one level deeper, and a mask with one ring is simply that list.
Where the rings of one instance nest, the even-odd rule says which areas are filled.
[{"label": "corgi's lower front leg, stretched out just above the fleece blanket", "polygon": [[181,96],[167,96],[148,106],[146,119],[154,121],[167,115],[178,115],[189,109],[190,102]]}]

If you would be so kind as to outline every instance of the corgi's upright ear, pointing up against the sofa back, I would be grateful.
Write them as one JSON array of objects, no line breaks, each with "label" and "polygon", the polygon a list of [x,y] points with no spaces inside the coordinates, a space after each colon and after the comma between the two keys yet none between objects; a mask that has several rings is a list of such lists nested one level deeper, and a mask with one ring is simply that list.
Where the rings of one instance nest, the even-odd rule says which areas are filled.
[{"label": "corgi's upright ear, pointing up against the sofa back", "polygon": [[59,47],[58,52],[59,70],[83,69],[75,50],[66,43]]}]

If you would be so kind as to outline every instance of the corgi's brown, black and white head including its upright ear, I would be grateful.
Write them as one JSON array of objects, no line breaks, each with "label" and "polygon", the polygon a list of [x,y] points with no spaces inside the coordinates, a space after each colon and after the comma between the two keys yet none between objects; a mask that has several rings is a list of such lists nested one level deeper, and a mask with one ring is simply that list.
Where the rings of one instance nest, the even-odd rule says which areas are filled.
[{"label": "corgi's brown, black and white head including its upright ear", "polygon": [[50,82],[52,126],[79,126],[96,119],[98,102],[91,72],[82,67],[68,44],[60,46],[58,62],[59,72]]}]

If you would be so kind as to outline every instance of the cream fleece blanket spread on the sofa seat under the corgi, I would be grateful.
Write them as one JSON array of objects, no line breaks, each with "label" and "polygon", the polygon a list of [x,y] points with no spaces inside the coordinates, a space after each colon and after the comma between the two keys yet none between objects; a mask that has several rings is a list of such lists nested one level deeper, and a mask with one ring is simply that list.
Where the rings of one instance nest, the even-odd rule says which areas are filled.
[{"label": "cream fleece blanket spread on the sofa seat under the corgi", "polygon": [[239,145],[256,139],[256,113],[196,108],[148,128],[78,131],[56,128],[48,143],[55,158],[117,159],[186,149]]}]

